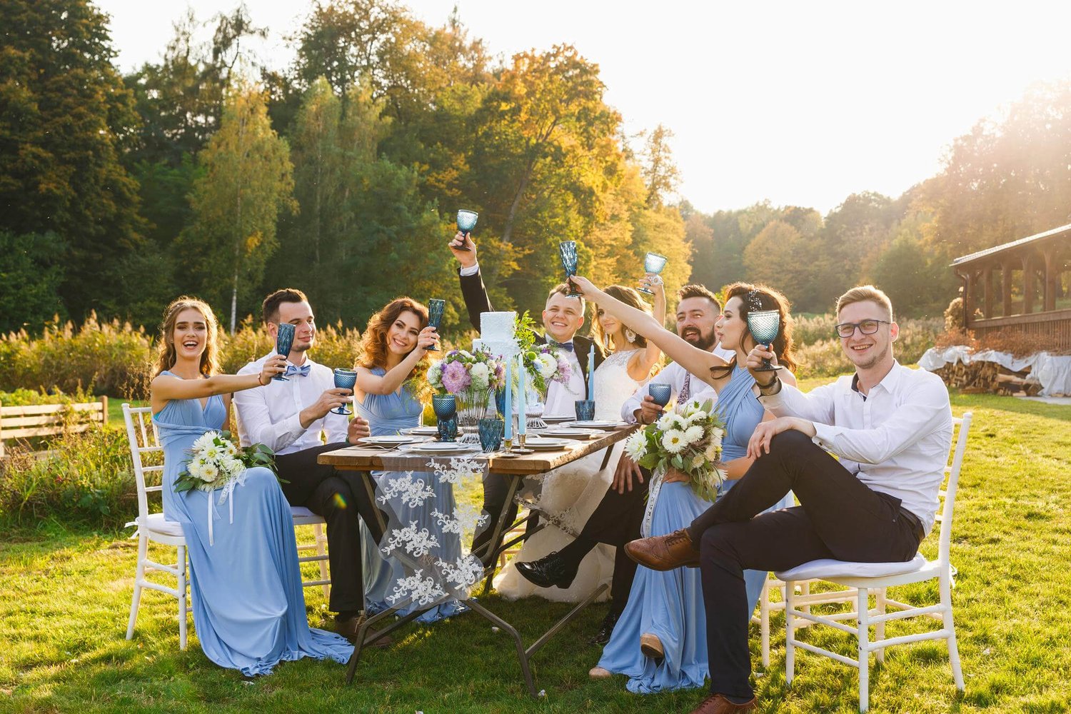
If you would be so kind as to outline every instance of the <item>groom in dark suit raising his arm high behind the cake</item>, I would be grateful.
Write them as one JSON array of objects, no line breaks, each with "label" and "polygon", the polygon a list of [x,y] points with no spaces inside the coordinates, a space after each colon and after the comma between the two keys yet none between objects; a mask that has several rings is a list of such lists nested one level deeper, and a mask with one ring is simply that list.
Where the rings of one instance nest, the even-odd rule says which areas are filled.
[{"label": "groom in dark suit raising his arm high behind the cake", "polygon": [[[464,248],[468,248],[467,250]],[[476,244],[471,238],[458,232],[450,242],[450,250],[461,263],[457,274],[461,277],[462,295],[465,298],[465,307],[468,309],[469,322],[477,330],[480,329],[480,314],[491,313],[491,300],[487,298],[487,289],[483,285],[480,275],[480,264],[476,258]],[[594,365],[588,364],[588,356],[591,350],[592,339],[576,334],[576,331],[584,324],[584,299],[567,298],[565,292],[569,287],[564,284],[555,286],[546,298],[543,306],[543,329],[546,335],[536,335],[539,343],[550,343],[558,346],[565,354],[573,373],[568,384],[552,382],[547,389],[546,404],[543,413],[549,416],[572,416],[574,411],[573,402],[584,399],[587,394],[588,370],[594,370],[602,364],[606,353],[598,343],[594,343]],[[491,515],[487,527],[481,531],[472,541],[472,551],[479,552],[484,564],[489,564],[494,560],[494,551],[499,544],[495,544],[488,552],[479,551],[478,548],[486,548],[487,541],[495,529],[497,516],[501,513],[502,503],[506,501],[507,482],[499,475],[489,475],[483,483],[483,507]],[[511,504],[507,513],[507,522],[512,523],[516,518],[517,506]]]}]

